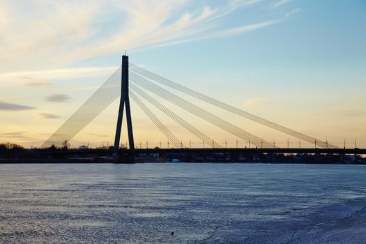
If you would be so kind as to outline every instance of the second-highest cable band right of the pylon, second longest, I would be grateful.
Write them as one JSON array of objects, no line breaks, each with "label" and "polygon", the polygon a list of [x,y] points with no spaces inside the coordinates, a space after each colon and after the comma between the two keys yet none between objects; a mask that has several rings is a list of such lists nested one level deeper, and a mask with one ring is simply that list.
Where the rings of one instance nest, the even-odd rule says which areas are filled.
[{"label": "second-highest cable band right of the pylon, second longest", "polygon": [[236,125],[224,121],[224,119],[221,119],[218,116],[215,116],[214,114],[211,114],[210,112],[201,109],[197,105],[194,105],[191,102],[184,100],[183,98],[179,98],[178,96],[167,91],[166,89],[163,89],[162,87],[153,84],[153,82],[150,82],[147,79],[140,77],[136,73],[133,72],[130,73],[130,81],[134,82],[135,84],[138,84],[139,86],[144,87],[144,89],[147,89],[148,91],[152,91],[156,95],[160,96],[161,98],[164,98],[165,100],[168,100],[169,102],[174,103],[178,107],[181,107],[187,110],[188,112],[195,114],[199,118],[204,119],[209,123],[218,126],[219,128],[222,128],[222,130],[226,130],[227,132],[231,133],[232,135],[235,135],[236,137],[244,139],[247,142],[251,142],[252,144],[259,147],[262,145],[268,148],[273,147],[273,144],[270,144],[269,142],[266,142],[260,139],[259,137],[252,135],[250,132],[246,132],[245,130],[238,128],[238,126]]}]

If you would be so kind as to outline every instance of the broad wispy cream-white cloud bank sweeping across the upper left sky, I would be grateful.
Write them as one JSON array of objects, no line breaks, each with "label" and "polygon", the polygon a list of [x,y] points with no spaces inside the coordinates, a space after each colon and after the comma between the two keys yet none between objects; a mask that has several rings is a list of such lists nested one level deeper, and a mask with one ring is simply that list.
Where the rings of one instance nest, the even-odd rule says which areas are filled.
[{"label": "broad wispy cream-white cloud bank sweeping across the upper left sky", "polygon": [[[201,5],[188,0],[91,0],[87,4],[85,1],[0,1],[0,72],[17,73],[17,67],[55,71],[56,67],[115,54],[121,49],[230,35],[233,26],[225,26],[224,17],[259,2],[207,1]],[[234,29],[235,33],[241,31]],[[52,73],[31,75],[45,75],[48,79],[53,76]],[[61,73],[55,76],[63,77]]]}]

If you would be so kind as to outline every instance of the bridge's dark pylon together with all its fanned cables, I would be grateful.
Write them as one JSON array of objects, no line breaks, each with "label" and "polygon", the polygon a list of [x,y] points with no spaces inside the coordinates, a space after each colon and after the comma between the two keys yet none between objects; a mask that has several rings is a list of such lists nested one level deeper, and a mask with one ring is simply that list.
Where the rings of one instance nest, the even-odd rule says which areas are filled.
[{"label": "bridge's dark pylon together with all its fanned cables", "polygon": [[[168,89],[169,88],[169,89]],[[188,150],[187,146],[184,146],[180,139],[174,135],[167,126],[162,123],[162,121],[156,116],[149,106],[153,106],[159,109],[163,114],[176,121],[178,125],[181,125],[185,130],[195,135],[203,144],[211,146],[215,151],[220,151],[224,149],[218,142],[198,130],[194,125],[183,119],[181,116],[176,114],[172,109],[159,102],[154,98],[156,96],[159,99],[165,100],[166,102],[184,109],[186,112],[197,116],[198,118],[206,121],[207,123],[226,131],[227,133],[234,135],[237,138],[243,139],[245,142],[249,142],[256,148],[260,148],[262,151],[266,148],[270,150],[281,151],[277,148],[275,144],[267,142],[256,135],[253,135],[243,128],[230,123],[229,121],[220,118],[219,116],[206,111],[202,107],[199,107],[190,100],[178,96],[172,91],[178,91],[186,96],[196,98],[208,105],[213,105],[219,109],[223,109],[226,112],[235,114],[236,116],[241,116],[250,121],[257,122],[261,125],[265,125],[268,128],[277,130],[291,137],[295,137],[300,141],[304,141],[310,144],[314,144],[314,148],[324,148],[327,150],[337,149],[337,146],[324,142],[312,137],[310,135],[305,135],[302,132],[298,132],[291,128],[284,127],[273,121],[268,121],[267,119],[261,118],[249,112],[245,112],[242,109],[228,105],[227,103],[221,102],[215,98],[200,93],[199,91],[192,90],[186,86],[173,82],[169,79],[161,77],[151,73],[150,71],[136,66],[133,63],[128,62],[128,56],[122,57],[122,66],[120,66],[110,77],[104,82],[93,95],[84,102],[84,104],[77,109],[77,111],[70,116],[70,118],[61,125],[61,127],[54,132],[49,139],[43,144],[43,147],[51,146],[61,146],[63,142],[70,141],[79,133],[83,128],[86,127],[93,119],[95,119],[103,110],[105,110],[109,105],[111,105],[114,100],[120,98],[119,104],[119,115],[117,117],[116,126],[116,136],[114,139],[114,155],[116,160],[118,160],[118,152],[120,149],[120,139],[121,139],[121,128],[123,113],[125,110],[127,129],[128,129],[128,142],[129,150],[137,151],[143,149],[135,149],[135,142],[133,138],[132,130],[132,117],[130,112],[130,98],[142,109],[144,114],[148,116],[151,121],[156,125],[156,127],[162,132],[162,134],[167,137],[168,142],[170,142],[172,148],[184,148]],[[165,102],[164,102],[165,103]]]}]

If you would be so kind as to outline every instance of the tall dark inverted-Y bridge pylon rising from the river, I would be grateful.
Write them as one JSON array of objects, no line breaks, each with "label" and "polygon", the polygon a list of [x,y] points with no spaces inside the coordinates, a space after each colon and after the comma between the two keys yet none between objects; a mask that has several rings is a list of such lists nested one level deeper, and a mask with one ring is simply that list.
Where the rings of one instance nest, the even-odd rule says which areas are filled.
[{"label": "tall dark inverted-Y bridge pylon rising from the river", "polygon": [[[114,153],[113,162],[125,162],[125,157],[120,157],[119,143],[121,139],[123,109],[125,107],[125,116],[128,130],[128,143],[130,150],[135,149],[133,142],[132,119],[130,109],[130,97],[128,95],[128,56],[122,56],[122,72],[121,72],[121,99],[119,101],[119,115],[117,118],[116,137],[114,137]],[[127,146],[127,145],[126,145]],[[128,161],[132,161],[134,157],[128,157]]]}]

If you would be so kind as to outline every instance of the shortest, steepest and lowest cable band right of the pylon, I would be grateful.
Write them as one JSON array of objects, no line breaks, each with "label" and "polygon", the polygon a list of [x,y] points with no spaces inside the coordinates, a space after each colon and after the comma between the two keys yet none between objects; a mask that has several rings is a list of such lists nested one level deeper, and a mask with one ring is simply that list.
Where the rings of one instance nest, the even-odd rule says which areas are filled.
[{"label": "shortest, steepest and lowest cable band right of the pylon", "polygon": [[156,117],[153,112],[151,112],[148,107],[144,105],[144,102],[139,100],[133,91],[130,93],[131,98],[139,105],[142,111],[148,116],[153,123],[155,123],[156,127],[169,139],[170,142],[174,144],[176,148],[181,148],[181,142],[170,132],[170,130]]}]

